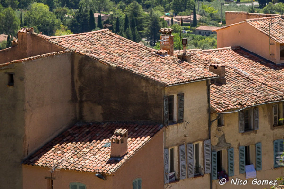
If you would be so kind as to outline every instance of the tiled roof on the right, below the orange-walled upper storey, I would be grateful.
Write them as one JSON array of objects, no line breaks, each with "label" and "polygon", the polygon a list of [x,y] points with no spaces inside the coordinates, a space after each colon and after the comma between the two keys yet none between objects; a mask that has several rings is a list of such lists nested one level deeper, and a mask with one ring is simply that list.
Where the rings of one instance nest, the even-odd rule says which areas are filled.
[{"label": "tiled roof on the right, below the orange-walled upper storey", "polygon": [[226,84],[210,87],[211,106],[218,112],[284,99],[284,66],[275,65],[243,48],[197,50],[224,64]]}]

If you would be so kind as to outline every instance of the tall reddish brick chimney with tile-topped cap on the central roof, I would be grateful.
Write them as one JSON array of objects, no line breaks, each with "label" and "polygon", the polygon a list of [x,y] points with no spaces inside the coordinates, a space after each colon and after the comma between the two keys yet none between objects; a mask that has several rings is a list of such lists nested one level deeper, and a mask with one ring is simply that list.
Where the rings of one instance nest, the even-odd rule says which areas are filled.
[{"label": "tall reddish brick chimney with tile-topped cap on the central roof", "polygon": [[167,50],[168,55],[174,56],[174,36],[172,35],[172,28],[161,28],[160,32],[160,49]]}]

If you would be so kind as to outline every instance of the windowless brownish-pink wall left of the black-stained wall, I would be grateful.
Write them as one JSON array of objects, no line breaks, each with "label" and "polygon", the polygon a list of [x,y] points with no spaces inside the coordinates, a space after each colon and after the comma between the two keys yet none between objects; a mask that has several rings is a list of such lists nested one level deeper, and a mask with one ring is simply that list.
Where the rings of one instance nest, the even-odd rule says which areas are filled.
[{"label": "windowless brownish-pink wall left of the black-stained wall", "polygon": [[23,64],[26,157],[76,121],[76,93],[72,53]]}]

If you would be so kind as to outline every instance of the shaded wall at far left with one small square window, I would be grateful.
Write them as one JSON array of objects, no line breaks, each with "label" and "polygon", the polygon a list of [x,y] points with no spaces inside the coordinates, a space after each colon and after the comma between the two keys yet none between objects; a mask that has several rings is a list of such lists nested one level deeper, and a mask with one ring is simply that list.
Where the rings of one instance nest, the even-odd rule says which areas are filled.
[{"label": "shaded wall at far left with one small square window", "polygon": [[[14,86],[7,86],[5,72],[13,72]],[[22,188],[24,139],[24,68],[22,64],[0,68],[0,184],[1,188]]]}]

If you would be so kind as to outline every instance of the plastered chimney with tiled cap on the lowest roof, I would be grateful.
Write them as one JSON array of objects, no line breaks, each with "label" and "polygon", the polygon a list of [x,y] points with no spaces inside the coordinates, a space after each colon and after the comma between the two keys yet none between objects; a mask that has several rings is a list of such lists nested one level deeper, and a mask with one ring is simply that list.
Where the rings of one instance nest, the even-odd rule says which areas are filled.
[{"label": "plastered chimney with tiled cap on the lowest roof", "polygon": [[128,152],[127,146],[128,130],[116,129],[110,138],[110,157],[122,157]]}]

